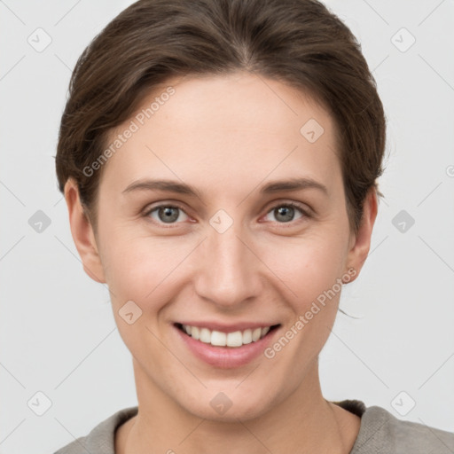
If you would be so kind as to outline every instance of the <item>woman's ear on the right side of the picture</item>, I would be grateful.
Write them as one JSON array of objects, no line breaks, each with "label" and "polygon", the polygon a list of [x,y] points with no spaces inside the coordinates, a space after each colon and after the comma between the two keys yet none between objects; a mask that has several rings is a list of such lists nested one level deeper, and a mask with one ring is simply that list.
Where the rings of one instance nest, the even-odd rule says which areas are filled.
[{"label": "woman's ear on the right side of the picture", "polygon": [[373,224],[377,217],[378,201],[377,192],[372,187],[367,193],[366,199],[364,200],[363,217],[361,218],[361,224],[356,235],[351,234],[350,245],[348,250],[348,268],[356,270],[355,276],[353,276],[348,282],[354,281],[363,268],[365,259],[369,254],[371,247],[371,237]]}]

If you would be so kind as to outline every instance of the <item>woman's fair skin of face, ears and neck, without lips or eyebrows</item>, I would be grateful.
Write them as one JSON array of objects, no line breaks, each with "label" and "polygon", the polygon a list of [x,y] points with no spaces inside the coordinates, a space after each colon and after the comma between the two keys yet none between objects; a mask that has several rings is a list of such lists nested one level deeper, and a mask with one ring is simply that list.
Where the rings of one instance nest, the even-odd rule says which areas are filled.
[{"label": "woman's fair skin of face, ears and neck, without lips or eyebrows", "polygon": [[[247,73],[187,76],[169,80],[144,106],[168,85],[175,94],[106,163],[98,231],[83,215],[74,181],[65,186],[83,268],[109,286],[115,322],[133,357],[139,411],[116,431],[115,450],[348,453],[361,420],[325,400],[318,376],[340,292],[272,359],[261,355],[238,368],[215,368],[192,356],[173,324],[270,320],[285,333],[336,278],[349,269],[356,270],[350,281],[359,275],[376,194],[368,194],[354,235],[333,119],[301,90]],[[325,129],[315,143],[300,133],[310,118]],[[301,176],[325,184],[327,195],[314,188],[260,193],[270,181]],[[145,177],[191,184],[200,198],[122,193]],[[283,222],[274,208],[290,201],[311,215],[295,208]],[[176,203],[183,211],[176,210],[173,223],[159,210],[146,214]],[[209,223],[219,209],[233,220],[223,233]],[[119,315],[126,301],[143,311],[132,325]],[[219,392],[232,403],[223,415],[210,405]]]}]

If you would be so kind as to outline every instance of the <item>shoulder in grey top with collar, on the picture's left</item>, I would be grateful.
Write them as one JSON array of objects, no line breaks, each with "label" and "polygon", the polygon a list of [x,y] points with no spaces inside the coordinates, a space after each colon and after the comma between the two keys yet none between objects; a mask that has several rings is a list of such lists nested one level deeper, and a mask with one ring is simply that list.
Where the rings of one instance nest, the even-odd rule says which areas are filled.
[{"label": "shoulder in grey top with collar, on the picture's left", "polygon": [[100,422],[98,426],[91,429],[90,434],[77,438],[54,454],[86,454],[87,452],[114,454],[116,428],[128,419],[136,416],[137,411],[137,406],[117,411],[109,418]]}]

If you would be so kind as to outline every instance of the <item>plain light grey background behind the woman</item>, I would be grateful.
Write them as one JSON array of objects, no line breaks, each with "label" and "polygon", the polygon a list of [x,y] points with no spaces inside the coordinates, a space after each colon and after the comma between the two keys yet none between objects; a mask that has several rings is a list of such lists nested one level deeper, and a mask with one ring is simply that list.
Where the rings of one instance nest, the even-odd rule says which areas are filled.
[{"label": "plain light grey background behind the woman", "polygon": [[[106,286],[82,270],[53,158],[75,61],[130,3],[0,1],[3,454],[51,453],[137,404],[129,351]],[[454,2],[325,4],[362,43],[389,159],[371,252],[340,301],[360,318],[339,314],[320,356],[323,392],[454,431]],[[41,52],[27,42],[45,43],[38,27],[51,36]],[[28,222],[38,210],[51,221],[41,233]],[[401,210],[415,221],[405,231],[393,223]],[[51,400],[42,416],[37,392]]]}]

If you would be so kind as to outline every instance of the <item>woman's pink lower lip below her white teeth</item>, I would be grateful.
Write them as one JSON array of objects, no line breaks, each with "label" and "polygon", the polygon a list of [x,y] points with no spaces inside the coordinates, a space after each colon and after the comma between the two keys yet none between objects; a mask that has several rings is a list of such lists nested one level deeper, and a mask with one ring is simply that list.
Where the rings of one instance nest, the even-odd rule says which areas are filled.
[{"label": "woman's pink lower lip below her white teeth", "polygon": [[211,344],[193,339],[189,334],[184,333],[176,325],[173,326],[185,345],[192,351],[192,354],[207,364],[222,369],[240,367],[250,363],[259,356],[270,344],[279,326],[269,331],[262,339],[256,340],[241,347],[215,347]]}]

